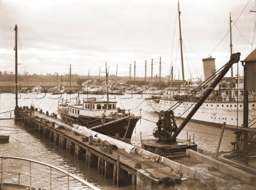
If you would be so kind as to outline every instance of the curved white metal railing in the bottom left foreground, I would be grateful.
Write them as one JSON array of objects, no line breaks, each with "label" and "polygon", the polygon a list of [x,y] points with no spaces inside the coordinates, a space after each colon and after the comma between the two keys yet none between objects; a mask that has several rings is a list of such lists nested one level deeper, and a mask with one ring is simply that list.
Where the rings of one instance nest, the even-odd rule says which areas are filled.
[{"label": "curved white metal railing in the bottom left foreground", "polygon": [[[21,175],[29,176],[29,187],[30,187],[29,189],[32,189],[32,187],[33,187],[32,178],[37,178],[37,179],[40,179],[40,180],[44,181],[45,182],[44,185],[45,184],[49,184],[50,185],[50,189],[52,189],[52,185],[58,186],[60,189],[69,189],[70,188],[69,187],[70,186],[70,184],[69,184],[70,180],[72,180],[72,181],[76,180],[76,181],[78,181],[77,183],[80,183],[81,186],[87,186],[88,189],[100,190],[100,188],[95,187],[94,185],[92,185],[88,181],[85,181],[85,180],[75,176],[74,174],[71,174],[71,173],[69,173],[69,172],[67,172],[67,171],[65,171],[63,169],[51,166],[50,164],[47,164],[47,163],[43,163],[43,162],[31,160],[31,159],[26,159],[26,158],[13,157],[13,156],[0,156],[0,158],[1,158],[1,187],[4,184],[4,178],[9,177],[10,174],[14,174],[14,175],[18,175],[17,176],[18,177],[18,185],[26,185],[26,184],[20,184],[20,177],[21,177]],[[22,161],[29,162],[29,174],[26,174],[26,171],[23,171],[24,173],[17,172],[17,171],[4,171],[3,170],[4,160],[7,160],[7,159],[22,160]],[[50,168],[50,176],[49,176],[50,180],[44,179],[42,177],[33,176],[32,175],[32,170],[31,170],[31,163],[36,163],[36,164],[39,164],[41,166],[45,166],[47,168]],[[10,169],[10,167],[9,167],[9,169]],[[64,174],[67,177],[67,184],[66,184],[66,186],[65,186],[65,184],[63,184],[63,181],[60,182],[61,185],[59,185],[57,183],[53,183],[53,181],[52,181],[52,179],[53,179],[53,176],[52,176],[53,169],[61,172],[62,174]],[[4,174],[6,174],[6,175],[4,175]],[[45,176],[47,176],[47,175],[45,174]],[[65,176],[63,176],[63,178],[65,178]],[[7,181],[7,179],[6,179],[6,181]],[[10,181],[10,179],[8,180],[8,182],[9,181]]]}]

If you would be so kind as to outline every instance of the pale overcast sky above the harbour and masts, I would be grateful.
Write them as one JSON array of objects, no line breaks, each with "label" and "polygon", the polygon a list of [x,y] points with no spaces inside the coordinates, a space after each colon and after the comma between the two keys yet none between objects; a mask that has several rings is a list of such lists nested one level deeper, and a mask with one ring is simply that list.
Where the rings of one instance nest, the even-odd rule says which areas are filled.
[{"label": "pale overcast sky above the harbour and masts", "polygon": [[[253,43],[255,0],[180,0],[185,79],[203,77],[202,59],[214,57],[219,69],[230,58],[229,13],[233,52],[241,60]],[[0,0],[1,71],[15,71],[15,24],[18,25],[19,73],[72,73],[145,77],[170,74],[182,78],[178,1],[174,0]],[[233,25],[232,24],[232,25]],[[222,40],[222,41],[221,41]],[[254,40],[255,41],[255,40]],[[219,44],[219,45],[218,45]],[[255,43],[254,43],[255,44]],[[241,65],[241,64],[240,64]],[[236,66],[234,67],[236,70]],[[234,71],[235,73],[237,71]],[[243,75],[242,67],[239,72]],[[230,75],[229,75],[230,76]]]}]

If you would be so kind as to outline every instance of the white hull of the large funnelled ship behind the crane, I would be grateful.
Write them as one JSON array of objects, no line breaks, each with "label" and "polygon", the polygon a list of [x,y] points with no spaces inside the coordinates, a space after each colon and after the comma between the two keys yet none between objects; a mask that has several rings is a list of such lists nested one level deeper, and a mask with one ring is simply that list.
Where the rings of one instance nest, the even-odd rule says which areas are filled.
[{"label": "white hull of the large funnelled ship behind the crane", "polygon": [[[186,118],[188,113],[194,108],[194,102],[183,102],[181,105],[174,106],[178,103],[176,100],[168,99],[151,99],[145,98],[145,101],[155,112],[161,110],[169,110],[173,106],[173,112],[175,117]],[[249,102],[249,126],[256,127],[256,124],[250,121],[256,118],[256,102]],[[210,124],[215,126],[221,126],[224,122],[229,126],[243,126],[243,102],[214,102],[205,101],[202,106],[193,115],[191,120],[204,124]]]}]

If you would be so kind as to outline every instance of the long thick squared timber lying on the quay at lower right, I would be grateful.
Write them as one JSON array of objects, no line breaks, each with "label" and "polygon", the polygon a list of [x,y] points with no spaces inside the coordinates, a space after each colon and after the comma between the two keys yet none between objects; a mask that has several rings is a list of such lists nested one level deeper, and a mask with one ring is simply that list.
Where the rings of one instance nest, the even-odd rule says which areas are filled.
[{"label": "long thick squared timber lying on the quay at lower right", "polygon": [[210,156],[206,156],[203,155],[201,153],[198,153],[196,151],[193,150],[186,150],[186,154],[189,154],[191,157],[204,162],[206,164],[209,164],[209,166],[214,167],[222,172],[224,172],[225,174],[228,174],[230,176],[233,176],[237,179],[241,179],[243,181],[245,181],[248,184],[251,185],[255,185],[256,184],[256,176],[252,175],[244,170],[235,168],[233,166],[230,166],[229,164],[220,162],[218,160],[214,160],[213,158],[211,158]]}]

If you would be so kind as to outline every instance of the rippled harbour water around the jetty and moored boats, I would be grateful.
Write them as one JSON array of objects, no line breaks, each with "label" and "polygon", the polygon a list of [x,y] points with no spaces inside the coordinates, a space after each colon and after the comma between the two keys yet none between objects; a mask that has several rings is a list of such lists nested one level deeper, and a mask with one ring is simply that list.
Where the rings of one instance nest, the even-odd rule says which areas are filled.
[{"label": "rippled harbour water around the jetty and moored boats", "polygon": [[[49,111],[50,113],[57,113],[57,104],[59,98],[67,98],[71,103],[74,103],[77,98],[77,94],[20,94],[18,105],[30,106],[34,105],[35,108],[42,109],[43,112]],[[102,100],[106,100],[106,95],[80,95],[80,99],[86,97],[97,97]],[[117,105],[122,109],[130,109],[130,112],[134,114],[141,114],[142,118],[138,121],[132,135],[132,143],[136,146],[140,146],[140,139],[154,138],[153,129],[156,127],[158,120],[158,114],[155,113],[143,98],[149,95],[110,95],[111,101],[117,101]],[[0,118],[13,117],[13,110],[15,107],[15,94],[0,94]],[[6,113],[5,113],[6,112]],[[177,121],[179,126],[181,120]],[[202,125],[196,122],[189,122],[188,125],[181,131],[178,138],[187,139],[193,136],[195,137],[195,143],[199,148],[215,152],[218,144],[218,139],[221,133],[221,128]],[[225,129],[223,134],[220,151],[231,151],[233,146],[230,142],[235,141],[234,130]],[[87,168],[84,161],[75,160],[74,155],[68,155],[66,150],[61,150],[58,146],[54,146],[50,143],[49,139],[44,139],[42,135],[28,131],[19,123],[15,123],[14,120],[0,120],[0,134],[10,135],[9,143],[0,144],[0,152],[2,156],[17,156],[22,158],[33,159],[36,161],[42,161],[51,164],[55,167],[65,169],[73,174],[89,181],[90,183],[98,186],[101,189],[131,189],[131,187],[119,187],[112,185],[111,179],[104,179],[103,176],[98,175],[97,168]],[[10,163],[12,168],[22,168],[22,164]],[[42,174],[44,175],[44,174]],[[64,180],[61,176],[58,180]],[[40,183],[40,182],[38,182]],[[65,182],[66,183],[66,182]],[[57,187],[55,189],[58,189]],[[76,183],[71,184],[71,189],[83,189],[83,187]]]}]

